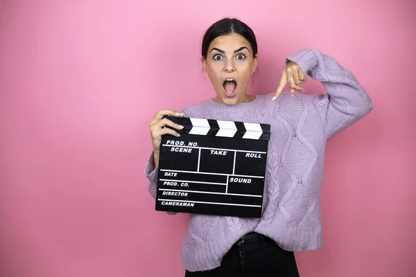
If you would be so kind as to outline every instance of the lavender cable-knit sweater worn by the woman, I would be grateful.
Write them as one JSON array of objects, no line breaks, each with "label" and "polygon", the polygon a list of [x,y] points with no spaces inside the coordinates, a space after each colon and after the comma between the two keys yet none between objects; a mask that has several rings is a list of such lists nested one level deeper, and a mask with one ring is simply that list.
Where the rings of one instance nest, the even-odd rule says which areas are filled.
[{"label": "lavender cable-knit sweater worn by the woman", "polygon": [[[327,139],[363,118],[372,102],[354,75],[332,57],[303,49],[288,57],[326,94],[273,93],[227,106],[211,98],[182,109],[189,117],[271,125],[261,218],[189,215],[182,242],[182,265],[189,271],[220,266],[221,259],[250,231],[267,235],[288,251],[322,247],[320,188]],[[150,154],[145,166],[155,198],[157,169]]]}]

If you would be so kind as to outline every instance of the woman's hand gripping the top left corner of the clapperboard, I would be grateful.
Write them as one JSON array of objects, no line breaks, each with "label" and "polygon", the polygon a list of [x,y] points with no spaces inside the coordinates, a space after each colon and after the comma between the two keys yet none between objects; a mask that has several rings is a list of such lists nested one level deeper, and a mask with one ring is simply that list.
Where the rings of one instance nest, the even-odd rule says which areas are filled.
[{"label": "woman's hand gripping the top left corner of the clapperboard", "polygon": [[[150,127],[150,134],[152,135],[152,142],[153,142],[153,154],[155,154],[157,159],[159,159],[159,150],[160,150],[160,142],[162,141],[162,135],[164,134],[171,134],[172,136],[180,136],[175,130],[166,128],[165,126],[170,126],[175,129],[183,129],[182,125],[176,124],[168,118],[162,118],[163,116],[177,116],[183,117],[185,114],[181,114],[177,111],[173,111],[172,109],[160,109],[157,111],[155,116],[153,116],[152,120],[150,120],[149,127]],[[157,166],[155,164],[155,166]]]}]

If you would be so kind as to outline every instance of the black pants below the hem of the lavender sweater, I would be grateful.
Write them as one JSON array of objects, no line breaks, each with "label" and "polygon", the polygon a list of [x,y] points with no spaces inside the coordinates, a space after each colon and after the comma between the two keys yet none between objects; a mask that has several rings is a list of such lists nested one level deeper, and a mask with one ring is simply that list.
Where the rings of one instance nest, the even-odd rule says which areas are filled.
[{"label": "black pants below the hem of the lavender sweater", "polygon": [[299,277],[295,255],[281,249],[270,238],[248,233],[229,249],[220,267],[186,271],[185,277]]}]

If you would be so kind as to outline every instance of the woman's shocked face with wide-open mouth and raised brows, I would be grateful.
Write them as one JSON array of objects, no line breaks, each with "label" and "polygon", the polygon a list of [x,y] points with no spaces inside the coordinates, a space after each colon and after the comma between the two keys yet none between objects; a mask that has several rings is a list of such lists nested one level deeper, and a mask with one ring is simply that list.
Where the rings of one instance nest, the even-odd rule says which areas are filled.
[{"label": "woman's shocked face with wide-open mouth and raised brows", "polygon": [[226,105],[249,102],[245,89],[256,71],[257,54],[253,57],[250,43],[244,37],[236,33],[216,37],[202,65],[216,91],[214,101]]}]

